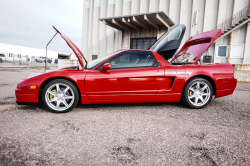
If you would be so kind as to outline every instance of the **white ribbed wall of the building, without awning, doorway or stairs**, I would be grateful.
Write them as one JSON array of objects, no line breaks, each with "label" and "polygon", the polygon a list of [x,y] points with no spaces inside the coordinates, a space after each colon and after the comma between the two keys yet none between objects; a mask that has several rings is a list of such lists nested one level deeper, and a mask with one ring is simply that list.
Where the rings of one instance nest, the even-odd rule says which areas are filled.
[{"label": "white ribbed wall of the building, without awning, doorway or stairs", "polygon": [[[186,25],[183,45],[191,35],[213,30],[250,4],[250,0],[101,0],[101,6],[96,7],[95,1],[90,0],[86,5],[84,0],[82,51],[88,60],[92,59],[92,55],[103,57],[118,49],[129,49],[130,38],[147,37],[144,28],[140,28],[138,36],[136,30],[131,33],[128,30],[119,31],[104,25],[99,18],[163,11],[176,25]],[[194,24],[197,10],[198,21]],[[160,26],[159,30],[152,27],[149,36],[160,37],[166,30],[164,26]],[[249,26],[233,32],[232,44],[244,44],[244,57],[231,58],[231,63],[250,64],[249,38]],[[217,47],[229,44],[230,35],[210,47],[208,54],[213,55],[214,62],[228,62],[228,58],[217,57]]]}]

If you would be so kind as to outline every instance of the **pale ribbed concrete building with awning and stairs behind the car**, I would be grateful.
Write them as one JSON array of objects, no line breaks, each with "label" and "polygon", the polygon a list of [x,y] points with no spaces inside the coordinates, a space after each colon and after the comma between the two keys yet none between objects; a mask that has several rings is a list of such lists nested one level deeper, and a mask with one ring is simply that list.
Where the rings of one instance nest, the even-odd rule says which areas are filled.
[{"label": "pale ribbed concrete building with awning and stairs behind the car", "polygon": [[84,0],[82,51],[92,60],[118,49],[145,49],[171,26],[184,24],[182,45],[220,28],[223,35],[205,54],[214,63],[250,64],[249,5],[250,0]]}]

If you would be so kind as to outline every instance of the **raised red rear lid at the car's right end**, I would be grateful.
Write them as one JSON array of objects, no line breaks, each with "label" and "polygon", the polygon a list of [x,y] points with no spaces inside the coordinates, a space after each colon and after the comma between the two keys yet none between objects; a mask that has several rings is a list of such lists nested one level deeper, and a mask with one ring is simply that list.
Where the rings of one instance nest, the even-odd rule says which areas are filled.
[{"label": "raised red rear lid at the car's right end", "polygon": [[213,42],[222,34],[220,29],[191,36],[180,51],[173,57],[171,63],[196,63]]}]

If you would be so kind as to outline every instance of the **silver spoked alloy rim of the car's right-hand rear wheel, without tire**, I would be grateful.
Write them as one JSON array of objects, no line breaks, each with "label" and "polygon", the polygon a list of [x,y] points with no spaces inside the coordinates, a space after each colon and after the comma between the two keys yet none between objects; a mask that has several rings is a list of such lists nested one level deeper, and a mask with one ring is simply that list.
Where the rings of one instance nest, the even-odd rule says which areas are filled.
[{"label": "silver spoked alloy rim of the car's right-hand rear wheel, without tire", "polygon": [[203,106],[210,96],[210,88],[205,82],[195,82],[188,89],[188,100],[194,106]]}]

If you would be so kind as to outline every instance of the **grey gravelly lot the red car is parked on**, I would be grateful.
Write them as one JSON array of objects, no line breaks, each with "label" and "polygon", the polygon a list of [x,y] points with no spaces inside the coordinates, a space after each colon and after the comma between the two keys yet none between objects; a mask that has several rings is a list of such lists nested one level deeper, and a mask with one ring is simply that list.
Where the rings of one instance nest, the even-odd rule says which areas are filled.
[{"label": "grey gravelly lot the red car is parked on", "polygon": [[35,69],[0,69],[0,165],[250,165],[250,84],[201,110],[180,103],[18,106]]}]

